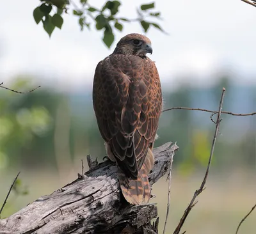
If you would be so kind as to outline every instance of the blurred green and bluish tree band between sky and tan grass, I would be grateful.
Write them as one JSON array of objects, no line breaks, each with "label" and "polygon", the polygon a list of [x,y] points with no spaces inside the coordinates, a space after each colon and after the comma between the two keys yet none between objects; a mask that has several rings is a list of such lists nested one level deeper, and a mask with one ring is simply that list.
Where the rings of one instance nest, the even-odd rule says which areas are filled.
[{"label": "blurred green and bluish tree band between sky and tan grass", "polygon": [[[15,90],[30,88],[31,78],[17,77]],[[182,84],[172,92],[164,90],[164,107],[201,107],[216,110],[221,88],[227,88],[225,111],[253,112],[256,90],[236,87],[230,77],[222,77],[212,88]],[[238,101],[240,100],[240,102]],[[209,113],[172,110],[163,113],[156,146],[177,141],[180,146],[175,166],[184,173],[207,164],[214,124]],[[222,116],[221,136],[216,145],[214,164],[221,168],[255,166],[255,116]],[[92,107],[91,90],[61,93],[40,88],[17,94],[0,90],[0,169],[60,169],[87,154],[100,160],[106,155]],[[71,164],[71,165],[70,165]]]}]

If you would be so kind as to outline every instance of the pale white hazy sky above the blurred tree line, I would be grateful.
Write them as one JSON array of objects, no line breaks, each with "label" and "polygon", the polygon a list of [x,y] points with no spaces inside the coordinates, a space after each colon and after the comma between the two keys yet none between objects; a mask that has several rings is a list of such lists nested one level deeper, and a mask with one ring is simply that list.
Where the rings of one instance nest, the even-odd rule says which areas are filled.
[{"label": "pale white hazy sky above the blurred tree line", "polygon": [[[134,19],[136,7],[150,2],[122,1],[119,16]],[[103,3],[93,1],[99,7]],[[90,88],[97,63],[111,54],[122,36],[145,35],[137,22],[125,24],[121,33],[115,31],[115,42],[108,49],[101,41],[102,31],[94,26],[80,31],[71,8],[62,29],[54,29],[50,39],[42,22],[36,25],[33,19],[39,4],[39,0],[1,4],[0,81],[6,86],[15,75],[29,74],[42,86]],[[237,84],[256,85],[256,8],[240,0],[156,0],[156,11],[161,12],[159,24],[168,35],[151,28],[147,36],[154,50],[149,57],[156,61],[162,84],[209,85],[213,75],[225,70]]]}]

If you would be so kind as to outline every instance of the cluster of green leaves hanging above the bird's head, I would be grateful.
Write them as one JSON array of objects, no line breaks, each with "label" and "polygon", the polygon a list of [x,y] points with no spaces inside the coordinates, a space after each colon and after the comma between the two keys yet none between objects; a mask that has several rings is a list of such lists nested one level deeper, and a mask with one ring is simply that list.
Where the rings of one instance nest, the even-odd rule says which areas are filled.
[{"label": "cluster of green leaves hanging above the bird's head", "polygon": [[160,12],[152,12],[155,3],[142,4],[137,9],[138,17],[136,19],[127,19],[118,17],[120,12],[121,1],[106,1],[101,9],[96,8],[88,3],[88,0],[80,0],[77,6],[72,0],[40,0],[40,6],[36,7],[33,16],[36,24],[41,21],[45,31],[51,37],[55,27],[61,29],[63,25],[63,14],[68,13],[68,6],[74,5],[72,14],[78,17],[78,23],[83,31],[84,27],[91,28],[92,24],[95,29],[103,32],[102,41],[107,47],[111,47],[115,40],[114,30],[122,31],[125,22],[140,22],[143,31],[147,33],[150,26],[156,27],[163,31],[161,26],[156,22],[149,22],[148,18],[161,19]]}]

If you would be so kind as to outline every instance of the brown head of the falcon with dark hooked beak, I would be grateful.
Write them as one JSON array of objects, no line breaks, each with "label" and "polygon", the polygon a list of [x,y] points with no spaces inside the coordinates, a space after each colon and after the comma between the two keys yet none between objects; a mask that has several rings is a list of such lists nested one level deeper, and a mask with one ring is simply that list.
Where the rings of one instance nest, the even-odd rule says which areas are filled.
[{"label": "brown head of the falcon with dark hooked beak", "polygon": [[117,43],[114,54],[127,54],[146,58],[146,54],[152,54],[153,49],[147,36],[132,33],[124,36]]}]

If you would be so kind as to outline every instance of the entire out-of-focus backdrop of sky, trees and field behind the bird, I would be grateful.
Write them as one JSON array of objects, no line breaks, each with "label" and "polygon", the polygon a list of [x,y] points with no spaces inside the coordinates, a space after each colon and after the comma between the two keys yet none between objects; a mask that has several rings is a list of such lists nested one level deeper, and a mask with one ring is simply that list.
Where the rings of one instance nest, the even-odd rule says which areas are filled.
[{"label": "entire out-of-focus backdrop of sky, trees and field behind the bird", "polygon": [[[170,33],[152,30],[147,35],[154,48],[150,58],[156,61],[161,77],[164,109],[182,106],[216,111],[225,87],[223,111],[256,111],[255,9],[236,2],[216,0],[209,8],[203,0],[156,1],[164,15],[161,26]],[[0,9],[4,22],[0,24],[0,82],[18,91],[42,86],[26,94],[0,88],[0,205],[21,171],[2,218],[75,180],[81,173],[81,159],[88,170],[86,155],[99,161],[106,155],[92,107],[94,69],[121,36],[143,33],[137,24],[127,24],[122,33],[115,31],[109,50],[101,41],[102,33],[94,29],[81,33],[77,19],[64,17],[63,28],[56,29],[49,40],[42,25],[33,21],[38,4],[6,1]],[[230,4],[233,8],[227,15]],[[134,17],[134,5],[123,1],[122,6],[125,17]],[[172,141],[180,147],[173,162],[166,233],[173,233],[204,177],[215,129],[210,116],[184,110],[161,116],[155,146]],[[223,114],[221,118],[207,189],[185,222],[188,233],[235,233],[256,202],[256,116]],[[159,233],[167,193],[168,182],[162,178],[152,190],[156,194],[152,203],[159,210]],[[256,212],[246,219],[240,233],[254,234],[255,223]]]}]

